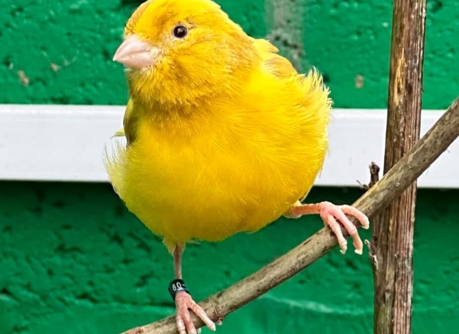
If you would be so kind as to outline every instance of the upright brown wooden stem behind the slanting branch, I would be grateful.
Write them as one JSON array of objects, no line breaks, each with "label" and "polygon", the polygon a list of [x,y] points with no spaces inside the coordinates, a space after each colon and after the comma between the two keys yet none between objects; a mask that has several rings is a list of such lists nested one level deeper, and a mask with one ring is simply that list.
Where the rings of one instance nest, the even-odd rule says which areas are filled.
[{"label": "upright brown wooden stem behind the slanting branch", "polygon": [[[425,35],[425,0],[394,0],[384,173],[418,141]],[[411,333],[413,183],[373,225],[374,333]]]}]

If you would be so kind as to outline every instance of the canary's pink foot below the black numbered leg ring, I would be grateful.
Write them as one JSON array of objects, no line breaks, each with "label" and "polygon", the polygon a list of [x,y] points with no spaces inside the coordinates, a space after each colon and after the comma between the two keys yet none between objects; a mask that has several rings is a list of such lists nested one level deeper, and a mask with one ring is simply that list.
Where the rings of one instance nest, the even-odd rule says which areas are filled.
[{"label": "canary's pink foot below the black numbered leg ring", "polygon": [[[209,319],[206,312],[196,304],[191,296],[185,291],[177,292],[175,296],[175,305],[177,308],[176,322],[179,334],[197,334],[196,328],[191,320],[189,310],[193,311],[206,326],[215,332],[215,324]],[[200,333],[200,331],[199,331]]]}]

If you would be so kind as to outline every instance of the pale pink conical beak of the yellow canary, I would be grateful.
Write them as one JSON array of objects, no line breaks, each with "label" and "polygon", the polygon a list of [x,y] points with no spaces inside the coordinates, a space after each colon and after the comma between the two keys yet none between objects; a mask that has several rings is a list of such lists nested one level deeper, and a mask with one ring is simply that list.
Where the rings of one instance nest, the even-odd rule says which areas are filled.
[{"label": "pale pink conical beak of the yellow canary", "polygon": [[136,35],[128,37],[116,50],[113,61],[131,68],[144,68],[154,65],[159,48],[141,41]]}]

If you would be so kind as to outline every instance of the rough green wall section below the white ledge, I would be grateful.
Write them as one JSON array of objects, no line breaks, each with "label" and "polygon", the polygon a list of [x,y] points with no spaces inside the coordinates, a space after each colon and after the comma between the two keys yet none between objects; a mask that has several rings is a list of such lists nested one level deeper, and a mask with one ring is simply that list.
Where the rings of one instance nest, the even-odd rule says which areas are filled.
[{"label": "rough green wall section below the white ledge", "polygon": [[[0,333],[110,334],[173,313],[172,258],[108,185],[0,183]],[[361,191],[315,189],[349,202]],[[459,191],[420,191],[413,333],[455,333],[459,318]],[[189,245],[184,275],[197,299],[281,255],[321,227],[282,219],[222,243]],[[367,234],[363,234],[367,237]],[[370,333],[367,256],[334,249],[229,316],[219,333]],[[268,327],[272,330],[268,331]]]}]

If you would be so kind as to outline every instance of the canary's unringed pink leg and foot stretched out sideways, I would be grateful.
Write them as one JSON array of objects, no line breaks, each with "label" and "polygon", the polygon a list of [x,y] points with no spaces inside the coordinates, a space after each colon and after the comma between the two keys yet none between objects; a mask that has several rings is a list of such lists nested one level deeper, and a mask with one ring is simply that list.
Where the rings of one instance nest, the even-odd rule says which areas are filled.
[{"label": "canary's unringed pink leg and foot stretched out sideways", "polygon": [[[325,225],[329,226],[338,239],[341,253],[345,253],[347,250],[347,241],[343,236],[339,223],[345,228],[345,230],[352,237],[355,252],[362,254],[363,243],[360,239],[359,233],[355,225],[346,217],[346,215],[354,216],[359,220],[364,229],[369,228],[369,221],[367,216],[361,211],[350,205],[334,205],[330,202],[321,202],[316,204],[295,204],[290,208],[287,217],[299,218],[303,215],[319,214]],[[339,223],[338,223],[339,221]]]}]

